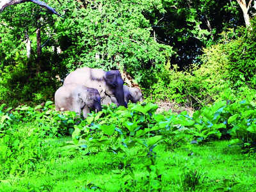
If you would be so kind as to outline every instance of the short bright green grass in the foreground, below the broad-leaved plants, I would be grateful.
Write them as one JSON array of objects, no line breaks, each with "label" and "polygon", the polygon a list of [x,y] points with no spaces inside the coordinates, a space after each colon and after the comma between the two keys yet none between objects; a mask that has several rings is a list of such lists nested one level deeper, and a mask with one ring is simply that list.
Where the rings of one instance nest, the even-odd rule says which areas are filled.
[{"label": "short bright green grass in the foreground, below the broad-leaved plants", "polygon": [[[127,191],[122,190],[125,185],[131,191],[147,191],[147,157],[127,157],[129,164],[124,166],[122,159],[111,152],[82,156],[78,150],[65,147],[70,140],[45,140],[47,157],[26,175],[10,175],[1,180],[0,191],[86,191],[86,187],[88,191]],[[154,150],[157,174],[161,177],[155,180],[162,186],[161,191],[256,189],[255,158],[242,154],[239,146],[229,147],[228,141],[184,145],[174,151],[165,148],[159,144]],[[138,150],[139,147],[133,148],[131,153]]]}]

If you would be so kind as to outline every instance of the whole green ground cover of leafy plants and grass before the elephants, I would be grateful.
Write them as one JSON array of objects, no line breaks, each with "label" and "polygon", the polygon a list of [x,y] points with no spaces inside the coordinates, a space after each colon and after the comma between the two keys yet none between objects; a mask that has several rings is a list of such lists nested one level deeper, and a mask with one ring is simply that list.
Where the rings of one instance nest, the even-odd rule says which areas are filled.
[{"label": "whole green ground cover of leafy plants and grass before the elephants", "polygon": [[[227,158],[223,162],[229,162],[231,157],[218,150],[227,150],[233,156],[239,156],[239,148],[255,150],[256,108],[253,102],[221,101],[195,111],[193,115],[186,111],[179,115],[170,112],[157,114],[157,106],[152,103],[131,104],[128,109],[109,106],[85,120],[75,118],[74,113],[56,112],[51,103],[47,102],[44,108],[20,106],[4,109],[1,106],[0,188],[57,191],[63,186],[55,188],[47,180],[52,177],[50,175],[54,175],[56,181],[58,177],[63,178],[66,170],[66,182],[72,177],[77,178],[78,174],[75,182],[78,191],[253,189],[252,180],[242,177],[241,170],[236,173],[241,177],[239,181],[232,175],[221,173],[222,176],[217,176],[211,170],[211,166],[220,161],[218,156]],[[72,140],[63,138],[69,132],[72,132]],[[207,143],[227,138],[232,138],[230,147],[227,142],[221,144],[222,149],[216,147],[211,157],[199,152],[202,146],[213,147]],[[239,152],[235,155],[237,150]],[[168,156],[174,159],[171,161]],[[188,156],[192,157],[185,163],[182,159]],[[212,161],[209,169],[196,168],[198,165],[193,162],[198,161],[198,156]],[[246,161],[249,162],[250,158]],[[207,162],[204,160],[203,163]],[[59,176],[54,166],[57,166]],[[166,168],[170,172],[166,172]],[[177,169],[180,173],[172,173]],[[96,179],[99,173],[105,175],[108,184]],[[115,176],[110,178],[109,174]],[[36,179],[30,182],[26,179],[29,177],[44,177],[45,182],[38,184]],[[87,180],[85,183],[84,179]],[[19,180],[20,184],[17,184]],[[115,182],[118,186],[113,185]],[[74,184],[66,191],[72,188]]]}]

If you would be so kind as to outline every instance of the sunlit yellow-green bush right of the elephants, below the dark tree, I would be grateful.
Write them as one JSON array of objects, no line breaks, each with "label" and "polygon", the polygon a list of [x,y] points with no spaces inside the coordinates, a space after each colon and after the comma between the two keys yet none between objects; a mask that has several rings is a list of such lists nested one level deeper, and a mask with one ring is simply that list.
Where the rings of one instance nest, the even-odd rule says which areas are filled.
[{"label": "sunlit yellow-green bush right of the elephants, below the dark tree", "polygon": [[[152,99],[203,106],[216,100],[255,99],[255,21],[252,30],[222,33],[220,42],[204,49],[200,65],[179,71],[170,63],[157,74],[157,82],[145,93]],[[242,52],[242,54],[241,54]]]}]

